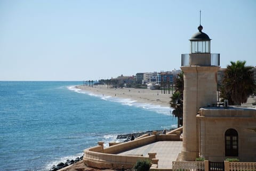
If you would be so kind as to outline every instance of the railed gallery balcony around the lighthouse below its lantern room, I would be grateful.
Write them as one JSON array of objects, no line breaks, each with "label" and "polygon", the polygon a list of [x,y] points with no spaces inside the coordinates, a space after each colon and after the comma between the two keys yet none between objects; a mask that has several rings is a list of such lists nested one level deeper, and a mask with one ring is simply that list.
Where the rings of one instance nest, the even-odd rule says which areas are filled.
[{"label": "railed gallery balcony around the lighthouse below its lantern room", "polygon": [[219,53],[181,54],[181,66],[220,66]]}]

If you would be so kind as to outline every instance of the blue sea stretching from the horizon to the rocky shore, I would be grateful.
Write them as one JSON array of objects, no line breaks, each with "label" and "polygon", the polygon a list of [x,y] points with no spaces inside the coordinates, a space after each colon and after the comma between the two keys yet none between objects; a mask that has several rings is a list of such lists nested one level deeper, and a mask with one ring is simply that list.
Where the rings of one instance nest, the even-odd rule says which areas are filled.
[{"label": "blue sea stretching from the horizon to the rocky shore", "polygon": [[0,170],[49,170],[118,134],[177,127],[170,108],[100,96],[82,82],[0,82]]}]

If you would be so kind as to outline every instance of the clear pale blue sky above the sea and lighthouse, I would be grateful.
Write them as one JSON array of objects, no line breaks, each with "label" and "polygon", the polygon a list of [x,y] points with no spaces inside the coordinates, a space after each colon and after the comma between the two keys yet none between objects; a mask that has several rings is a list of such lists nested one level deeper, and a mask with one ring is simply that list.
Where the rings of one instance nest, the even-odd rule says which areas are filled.
[{"label": "clear pale blue sky above the sea and lighthouse", "polygon": [[256,1],[2,1],[0,80],[89,80],[180,69],[201,25],[221,68],[256,66]]}]

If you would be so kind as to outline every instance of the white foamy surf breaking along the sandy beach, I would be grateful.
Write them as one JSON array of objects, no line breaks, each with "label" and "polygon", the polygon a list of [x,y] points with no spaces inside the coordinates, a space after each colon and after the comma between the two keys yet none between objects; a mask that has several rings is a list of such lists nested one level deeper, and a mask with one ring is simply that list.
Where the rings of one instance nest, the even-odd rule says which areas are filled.
[{"label": "white foamy surf breaking along the sandy beach", "polygon": [[88,94],[94,97],[99,97],[102,100],[107,100],[111,102],[116,102],[116,103],[121,103],[123,105],[129,105],[137,108],[142,108],[145,110],[149,111],[154,111],[156,113],[160,113],[163,115],[172,115],[172,108],[169,107],[161,107],[161,105],[155,105],[155,104],[150,104],[150,103],[137,103],[136,100],[132,99],[122,99],[118,97],[113,97],[113,96],[107,96],[107,95],[100,95],[100,94],[94,94],[89,91],[85,91],[83,89],[79,89],[76,86],[68,86],[67,87],[70,91],[74,91],[76,93],[82,93],[82,94]]}]

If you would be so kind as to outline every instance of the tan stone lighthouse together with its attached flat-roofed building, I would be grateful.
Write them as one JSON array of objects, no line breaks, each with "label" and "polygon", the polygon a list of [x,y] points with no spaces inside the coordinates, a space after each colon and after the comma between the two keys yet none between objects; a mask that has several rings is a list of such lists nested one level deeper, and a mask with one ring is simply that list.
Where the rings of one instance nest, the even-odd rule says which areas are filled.
[{"label": "tan stone lighthouse together with its attached flat-roofed building", "polygon": [[211,53],[211,39],[198,27],[190,53],[181,55],[184,73],[182,160],[237,158],[256,161],[255,108],[217,107],[220,54]]}]

